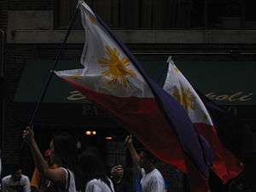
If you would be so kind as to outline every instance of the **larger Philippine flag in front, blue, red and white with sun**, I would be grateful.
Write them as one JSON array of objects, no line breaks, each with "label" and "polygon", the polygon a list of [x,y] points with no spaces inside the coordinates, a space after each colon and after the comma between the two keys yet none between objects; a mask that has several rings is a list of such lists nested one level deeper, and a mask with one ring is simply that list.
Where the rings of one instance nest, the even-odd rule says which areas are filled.
[{"label": "larger Philippine flag in front, blue, red and white with sun", "polygon": [[80,2],[85,30],[80,69],[55,72],[91,102],[105,109],[156,157],[189,176],[193,192],[207,192],[208,143],[183,107],[148,79],[136,58],[102,20]]}]

